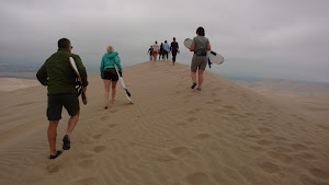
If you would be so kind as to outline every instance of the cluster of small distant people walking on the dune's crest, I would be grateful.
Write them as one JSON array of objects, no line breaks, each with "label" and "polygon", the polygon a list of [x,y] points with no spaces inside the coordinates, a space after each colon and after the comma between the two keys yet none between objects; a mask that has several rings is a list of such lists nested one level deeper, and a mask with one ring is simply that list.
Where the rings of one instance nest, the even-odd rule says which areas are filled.
[{"label": "cluster of small distant people walking on the dune's crest", "polygon": [[169,53],[171,53],[172,55],[172,65],[174,65],[175,56],[179,53],[179,44],[175,42],[175,37],[172,38],[172,43],[170,44],[170,46],[167,41],[164,41],[164,43],[161,43],[160,46],[158,45],[158,42],[155,42],[155,44],[148,49],[149,60],[156,61],[157,56],[159,55],[159,60],[162,58],[162,60],[167,59],[168,61]]}]

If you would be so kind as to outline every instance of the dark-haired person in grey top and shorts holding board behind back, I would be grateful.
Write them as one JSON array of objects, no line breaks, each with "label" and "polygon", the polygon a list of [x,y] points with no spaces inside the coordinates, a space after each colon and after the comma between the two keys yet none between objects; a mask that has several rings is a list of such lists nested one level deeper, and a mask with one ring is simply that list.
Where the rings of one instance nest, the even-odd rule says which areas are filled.
[{"label": "dark-haired person in grey top and shorts holding board behind back", "polygon": [[207,66],[208,57],[207,50],[211,50],[211,43],[207,37],[205,37],[204,28],[197,27],[196,35],[193,38],[191,51],[194,51],[192,62],[191,62],[191,78],[192,78],[192,89],[196,85],[196,70],[198,69],[198,84],[197,90],[201,91],[201,85],[203,83],[203,72]]}]

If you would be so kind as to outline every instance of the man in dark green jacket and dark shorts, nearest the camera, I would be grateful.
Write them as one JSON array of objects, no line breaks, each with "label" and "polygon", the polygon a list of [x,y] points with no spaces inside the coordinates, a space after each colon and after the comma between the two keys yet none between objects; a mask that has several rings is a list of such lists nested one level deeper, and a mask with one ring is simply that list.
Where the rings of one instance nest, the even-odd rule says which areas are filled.
[{"label": "man in dark green jacket and dark shorts, nearest the camera", "polygon": [[70,149],[70,135],[79,120],[80,106],[76,90],[76,73],[72,70],[69,57],[77,63],[82,80],[82,92],[87,91],[87,71],[78,55],[71,54],[71,43],[67,38],[58,41],[58,50],[53,54],[36,73],[37,80],[47,85],[48,106],[47,117],[49,120],[48,142],[50,147],[49,159],[56,159],[61,151],[56,150],[57,126],[61,118],[63,106],[71,116],[68,122],[66,135],[63,138],[63,149]]}]

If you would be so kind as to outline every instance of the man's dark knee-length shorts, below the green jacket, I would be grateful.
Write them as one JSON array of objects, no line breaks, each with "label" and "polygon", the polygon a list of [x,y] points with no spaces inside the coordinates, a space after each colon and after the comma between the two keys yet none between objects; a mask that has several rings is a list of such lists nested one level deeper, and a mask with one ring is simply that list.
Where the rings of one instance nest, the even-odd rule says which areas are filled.
[{"label": "man's dark knee-length shorts, below the green jacket", "polygon": [[48,95],[47,117],[48,120],[59,120],[61,118],[63,106],[70,116],[75,116],[79,109],[79,99],[77,94],[54,94]]}]

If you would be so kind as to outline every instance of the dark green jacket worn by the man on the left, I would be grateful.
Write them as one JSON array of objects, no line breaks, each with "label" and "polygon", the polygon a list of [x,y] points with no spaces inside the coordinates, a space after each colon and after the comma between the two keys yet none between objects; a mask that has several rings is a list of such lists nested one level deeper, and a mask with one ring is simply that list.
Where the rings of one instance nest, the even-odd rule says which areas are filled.
[{"label": "dark green jacket worn by the man on the left", "polygon": [[76,77],[70,66],[69,57],[72,57],[78,67],[82,85],[87,86],[87,71],[78,55],[68,49],[59,48],[53,54],[36,73],[37,80],[48,86],[48,95],[52,94],[76,94]]}]

